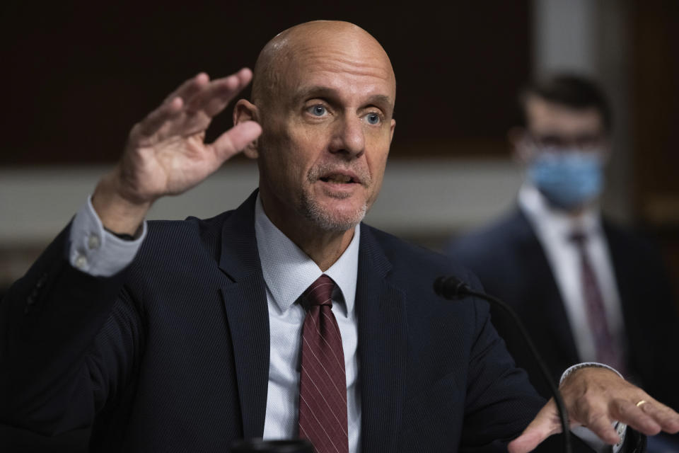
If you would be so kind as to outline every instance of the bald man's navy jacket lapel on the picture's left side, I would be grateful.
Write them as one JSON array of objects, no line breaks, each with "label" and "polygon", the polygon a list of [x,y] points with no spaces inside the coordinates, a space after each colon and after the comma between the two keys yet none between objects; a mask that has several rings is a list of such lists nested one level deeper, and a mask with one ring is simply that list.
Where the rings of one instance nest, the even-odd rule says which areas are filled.
[{"label": "bald man's navy jacket lapel on the picture's left side", "polygon": [[255,239],[255,199],[250,195],[222,227],[219,267],[231,279],[221,287],[243,416],[243,437],[262,437],[269,382],[269,311]]}]

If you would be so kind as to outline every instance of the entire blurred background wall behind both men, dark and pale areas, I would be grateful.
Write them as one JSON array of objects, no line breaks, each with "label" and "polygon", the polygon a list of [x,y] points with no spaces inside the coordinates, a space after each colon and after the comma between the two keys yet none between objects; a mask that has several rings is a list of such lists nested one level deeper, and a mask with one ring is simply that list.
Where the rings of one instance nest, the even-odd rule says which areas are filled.
[{"label": "entire blurred background wall behind both men, dark and pale areas", "polygon": [[[654,236],[679,276],[677,1],[13,1],[0,31],[0,294],[167,93],[199,71],[253,67],[273,35],[315,18],[366,28],[395,67],[397,128],[369,223],[437,248],[509,209],[521,183],[506,144],[516,91],[579,71],[613,100],[604,209]],[[230,125],[229,111],[208,138]],[[256,185],[255,165],[235,159],[152,218],[211,216]]]}]

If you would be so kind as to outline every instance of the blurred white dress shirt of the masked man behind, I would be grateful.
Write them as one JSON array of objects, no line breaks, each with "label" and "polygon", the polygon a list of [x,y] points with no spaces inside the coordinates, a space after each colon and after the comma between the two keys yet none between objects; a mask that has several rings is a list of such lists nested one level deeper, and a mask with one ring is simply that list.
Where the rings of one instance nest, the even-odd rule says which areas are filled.
[{"label": "blurred white dress shirt of the masked man behind", "polygon": [[530,183],[525,183],[519,191],[518,204],[526,213],[550,263],[580,360],[595,362],[597,357],[594,337],[587,320],[580,252],[578,246],[569,239],[574,231],[581,231],[587,237],[584,246],[603,298],[608,328],[615,344],[624,353],[625,325],[620,294],[598,210],[589,208],[578,217],[571,217],[552,208]]}]

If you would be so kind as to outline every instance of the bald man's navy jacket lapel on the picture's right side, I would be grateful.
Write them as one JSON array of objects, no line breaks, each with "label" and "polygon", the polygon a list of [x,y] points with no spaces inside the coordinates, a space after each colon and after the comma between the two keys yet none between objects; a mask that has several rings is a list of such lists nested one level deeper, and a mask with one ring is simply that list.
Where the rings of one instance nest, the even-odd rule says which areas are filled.
[{"label": "bald man's navy jacket lapel on the picture's right side", "polygon": [[364,452],[396,451],[402,418],[407,355],[405,294],[386,279],[390,268],[370,229],[361,225],[356,310]]}]

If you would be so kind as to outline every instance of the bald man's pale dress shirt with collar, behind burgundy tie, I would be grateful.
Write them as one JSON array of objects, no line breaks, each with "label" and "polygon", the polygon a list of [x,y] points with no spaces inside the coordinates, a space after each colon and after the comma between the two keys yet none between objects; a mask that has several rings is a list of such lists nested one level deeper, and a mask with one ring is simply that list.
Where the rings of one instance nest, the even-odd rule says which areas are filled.
[{"label": "bald man's pale dress shirt with collar, behind burgundy tie", "polygon": [[[340,327],[347,373],[349,452],[359,452],[361,432],[359,362],[356,357],[358,323],[354,307],[360,234],[359,225],[356,225],[347,250],[325,271],[325,275],[337,284],[332,292],[332,313]],[[255,205],[255,237],[267,283],[271,335],[264,438],[294,439],[298,436],[300,343],[306,316],[297,299],[323,272],[272,224],[262,209],[260,197]]]}]

